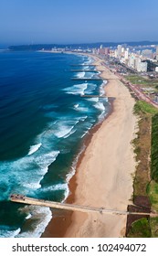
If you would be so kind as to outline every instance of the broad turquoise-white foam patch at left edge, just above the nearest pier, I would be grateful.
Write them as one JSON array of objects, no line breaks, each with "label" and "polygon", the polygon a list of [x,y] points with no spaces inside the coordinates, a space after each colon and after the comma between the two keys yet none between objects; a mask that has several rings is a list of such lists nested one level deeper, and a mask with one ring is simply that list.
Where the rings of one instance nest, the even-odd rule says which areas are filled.
[{"label": "broad turquoise-white foam patch at left edge, just above the nearest pier", "polygon": [[4,193],[0,193],[1,198],[5,199],[13,193],[27,194],[30,189],[36,191],[41,187],[40,181],[47,173],[48,166],[56,160],[58,154],[59,151],[45,153],[41,150],[40,155],[30,155],[13,162],[1,163],[0,192],[1,187],[7,187]]}]

